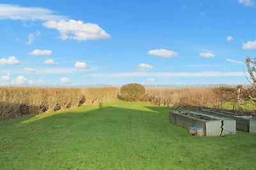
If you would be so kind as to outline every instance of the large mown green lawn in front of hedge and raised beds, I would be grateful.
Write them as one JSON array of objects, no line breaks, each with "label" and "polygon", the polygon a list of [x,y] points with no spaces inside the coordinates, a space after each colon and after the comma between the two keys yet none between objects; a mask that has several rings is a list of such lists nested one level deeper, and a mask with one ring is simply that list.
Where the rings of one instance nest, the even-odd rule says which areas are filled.
[{"label": "large mown green lawn in front of hedge and raised beds", "polygon": [[0,169],[255,169],[256,135],[196,137],[170,108],[111,103],[0,123]]}]

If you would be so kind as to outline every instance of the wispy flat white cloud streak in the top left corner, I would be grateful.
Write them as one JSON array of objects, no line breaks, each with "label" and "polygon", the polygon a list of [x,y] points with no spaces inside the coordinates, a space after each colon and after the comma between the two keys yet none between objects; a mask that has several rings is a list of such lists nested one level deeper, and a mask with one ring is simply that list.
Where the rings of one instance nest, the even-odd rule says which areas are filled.
[{"label": "wispy flat white cloud streak in the top left corner", "polygon": [[0,4],[0,19],[10,20],[65,20],[67,17],[52,15],[54,12],[45,8]]}]

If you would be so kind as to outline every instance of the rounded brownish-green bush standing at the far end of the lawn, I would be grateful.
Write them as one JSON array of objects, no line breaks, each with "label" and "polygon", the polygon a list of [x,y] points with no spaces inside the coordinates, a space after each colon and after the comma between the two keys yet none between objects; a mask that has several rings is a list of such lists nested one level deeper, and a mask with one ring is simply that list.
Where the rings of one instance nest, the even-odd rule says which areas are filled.
[{"label": "rounded brownish-green bush standing at the far end of the lawn", "polygon": [[145,87],[137,83],[124,85],[120,89],[120,93],[125,101],[139,101],[145,92]]}]

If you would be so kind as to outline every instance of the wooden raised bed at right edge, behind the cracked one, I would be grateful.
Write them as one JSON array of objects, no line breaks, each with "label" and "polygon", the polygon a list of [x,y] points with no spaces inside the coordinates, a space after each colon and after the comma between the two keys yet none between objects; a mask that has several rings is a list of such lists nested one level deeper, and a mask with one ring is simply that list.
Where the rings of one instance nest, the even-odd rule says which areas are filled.
[{"label": "wooden raised bed at right edge, behind the cracked one", "polygon": [[256,133],[256,117],[233,113],[230,111],[202,110],[207,115],[216,115],[218,117],[233,118],[236,120],[237,131]]}]

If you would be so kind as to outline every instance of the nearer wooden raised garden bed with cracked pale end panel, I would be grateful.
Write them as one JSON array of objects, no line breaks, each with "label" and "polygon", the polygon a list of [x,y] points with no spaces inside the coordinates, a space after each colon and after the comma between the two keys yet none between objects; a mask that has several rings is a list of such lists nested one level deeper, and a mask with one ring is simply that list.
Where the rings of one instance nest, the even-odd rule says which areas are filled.
[{"label": "nearer wooden raised garden bed with cracked pale end panel", "polygon": [[223,136],[236,133],[236,120],[208,117],[191,111],[170,111],[169,121],[182,127],[200,126],[206,136]]}]

